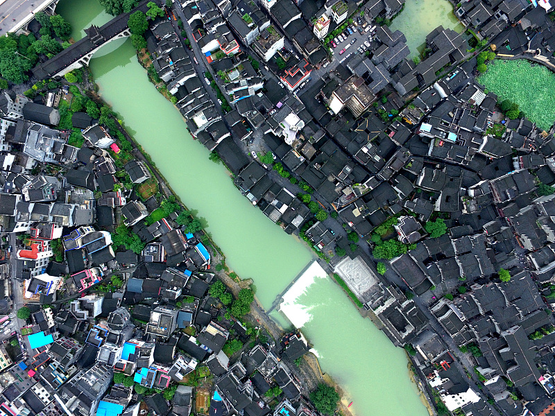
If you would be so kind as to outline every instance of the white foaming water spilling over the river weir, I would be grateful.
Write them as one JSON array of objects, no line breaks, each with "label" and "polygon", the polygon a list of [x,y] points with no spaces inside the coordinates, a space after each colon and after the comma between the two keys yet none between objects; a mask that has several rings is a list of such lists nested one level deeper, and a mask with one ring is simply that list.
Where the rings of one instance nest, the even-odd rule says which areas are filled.
[{"label": "white foaming water spilling over the river weir", "polygon": [[295,284],[289,288],[283,295],[283,301],[280,304],[280,311],[287,316],[287,319],[297,327],[302,328],[311,319],[311,311],[318,305],[311,303],[303,305],[298,302],[301,295],[307,293],[307,289],[314,284],[316,279],[325,279],[327,277],[325,270],[318,264],[316,260],[300,275]]}]

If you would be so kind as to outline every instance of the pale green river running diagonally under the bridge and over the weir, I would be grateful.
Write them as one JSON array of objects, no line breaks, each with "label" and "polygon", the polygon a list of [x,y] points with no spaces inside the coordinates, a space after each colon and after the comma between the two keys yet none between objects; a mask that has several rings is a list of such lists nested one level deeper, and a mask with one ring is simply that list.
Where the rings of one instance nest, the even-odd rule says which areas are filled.
[{"label": "pale green river running diagonally under the bridge and over the weir", "polygon": [[[93,0],[62,0],[56,10],[82,29],[108,21]],[[130,41],[112,42],[90,62],[99,94],[112,105],[131,135],[148,152],[241,278],[251,277],[257,299],[266,308],[314,258],[253,207],[233,186],[228,172],[208,159],[208,151],[191,139],[185,121],[148,81]],[[286,295],[282,312],[314,345],[324,372],[345,390],[357,416],[425,416],[407,371],[404,350],[368,319],[363,319],[319,266],[311,266]],[[274,313],[278,322],[287,320]]]}]

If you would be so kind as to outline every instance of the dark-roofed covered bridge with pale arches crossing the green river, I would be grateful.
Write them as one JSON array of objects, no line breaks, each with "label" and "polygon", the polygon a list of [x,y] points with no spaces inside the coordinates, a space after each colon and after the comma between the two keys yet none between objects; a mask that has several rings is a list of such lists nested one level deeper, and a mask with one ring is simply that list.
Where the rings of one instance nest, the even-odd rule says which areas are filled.
[{"label": "dark-roofed covered bridge with pale arches crossing the green river", "polygon": [[[87,66],[92,58],[92,55],[99,51],[105,44],[112,42],[112,40],[121,39],[121,37],[128,37],[131,35],[127,26],[127,21],[131,13],[141,10],[146,12],[148,7],[146,3],[152,0],[143,0],[139,3],[137,8],[131,10],[130,13],[122,13],[108,21],[107,24],[99,28],[98,26],[91,26],[85,29],[87,36],[75,42],[69,48],[58,53],[58,55],[42,62],[33,68],[33,75],[39,80],[45,78],[56,78],[64,76],[69,71]],[[157,1],[156,3],[159,3]]]}]

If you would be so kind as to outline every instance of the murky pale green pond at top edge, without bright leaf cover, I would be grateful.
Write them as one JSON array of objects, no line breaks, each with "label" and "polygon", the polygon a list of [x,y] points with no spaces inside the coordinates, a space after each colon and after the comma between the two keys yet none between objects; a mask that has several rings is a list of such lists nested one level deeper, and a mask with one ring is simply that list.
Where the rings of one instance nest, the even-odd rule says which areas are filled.
[{"label": "murky pale green pond at top edge, without bright leaf cover", "polygon": [[[426,36],[439,25],[461,33],[463,24],[453,14],[453,6],[447,0],[407,0],[404,10],[391,23],[391,31],[402,31],[407,37],[411,55],[420,56],[425,48]],[[468,46],[470,48],[470,46]]]}]

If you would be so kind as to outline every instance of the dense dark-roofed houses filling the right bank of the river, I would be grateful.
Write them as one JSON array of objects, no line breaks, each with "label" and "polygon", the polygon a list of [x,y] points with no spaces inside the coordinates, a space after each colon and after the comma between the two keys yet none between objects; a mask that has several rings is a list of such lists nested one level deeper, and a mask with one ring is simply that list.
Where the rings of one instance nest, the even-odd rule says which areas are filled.
[{"label": "dense dark-roofed houses filling the right bank of the river", "polygon": [[[414,363],[448,410],[493,411],[454,365],[461,354],[450,351],[454,343],[475,363],[504,415],[547,415],[555,370],[555,196],[545,194],[555,182],[552,130],[506,118],[497,96],[475,80],[468,36],[441,26],[426,37],[421,62],[409,58],[403,33],[378,26],[369,53],[332,58],[339,65],[319,71],[330,58],[320,41],[355,8],[374,24],[394,17],[403,3],[182,2],[191,42],[214,73],[223,73],[232,105],[204,131],[198,124],[189,129],[221,156],[253,205],[288,233],[314,214],[291,187],[271,179],[269,166],[244,155],[239,140],[262,137],[283,168],[314,189],[312,198],[361,238],[370,241],[377,227],[396,218],[391,229],[408,250],[388,267],[409,292],[358,251],[335,256],[334,272],[395,345],[413,347]],[[519,0],[471,0],[455,8],[475,43],[486,41],[509,58],[543,55],[548,64],[551,10],[549,1]],[[253,59],[268,62],[275,76],[262,76]],[[274,61],[285,65],[275,69]],[[193,83],[204,87],[202,80]],[[188,87],[178,99],[187,94]],[[180,103],[193,99],[187,97]],[[447,232],[432,238],[426,225],[436,218]],[[324,223],[303,233],[319,252],[349,252],[348,241]],[[509,270],[509,281],[499,280],[500,270]],[[417,305],[413,295],[425,303]],[[432,315],[445,333],[429,326]],[[236,379],[246,374],[236,371]]]}]

